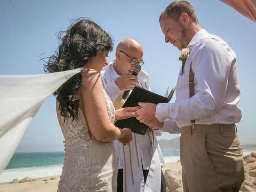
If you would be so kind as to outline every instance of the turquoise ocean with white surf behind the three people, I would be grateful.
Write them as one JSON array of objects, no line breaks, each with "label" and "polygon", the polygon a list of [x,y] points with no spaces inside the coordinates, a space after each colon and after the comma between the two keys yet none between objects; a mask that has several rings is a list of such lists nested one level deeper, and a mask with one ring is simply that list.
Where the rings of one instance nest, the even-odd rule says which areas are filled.
[{"label": "turquoise ocean with white surf behind the three people", "polygon": [[[244,156],[251,152],[244,150]],[[166,163],[180,160],[179,150],[162,150]],[[0,174],[0,183],[11,182],[14,178],[41,178],[60,175],[64,152],[15,153],[6,169]]]}]

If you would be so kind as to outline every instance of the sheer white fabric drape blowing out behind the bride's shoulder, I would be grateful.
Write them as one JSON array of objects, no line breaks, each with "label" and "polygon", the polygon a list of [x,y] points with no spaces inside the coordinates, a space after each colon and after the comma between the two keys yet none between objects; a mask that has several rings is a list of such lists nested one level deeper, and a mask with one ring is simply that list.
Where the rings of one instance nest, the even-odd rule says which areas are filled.
[{"label": "sheer white fabric drape blowing out behind the bride's shoulder", "polygon": [[44,100],[83,69],[37,75],[0,75],[0,172],[12,158]]}]

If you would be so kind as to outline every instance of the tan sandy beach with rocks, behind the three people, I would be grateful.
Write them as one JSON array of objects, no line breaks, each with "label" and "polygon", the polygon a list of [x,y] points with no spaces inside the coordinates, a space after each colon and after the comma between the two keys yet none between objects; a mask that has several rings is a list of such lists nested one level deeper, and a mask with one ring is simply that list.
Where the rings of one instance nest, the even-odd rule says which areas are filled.
[{"label": "tan sandy beach with rocks, behind the three people", "polygon": [[[162,166],[166,180],[166,192],[183,192],[180,162],[166,163]],[[256,153],[244,157],[245,181],[241,192],[256,191]],[[44,178],[26,178],[16,183],[0,184],[0,192],[56,192],[60,176]]]}]

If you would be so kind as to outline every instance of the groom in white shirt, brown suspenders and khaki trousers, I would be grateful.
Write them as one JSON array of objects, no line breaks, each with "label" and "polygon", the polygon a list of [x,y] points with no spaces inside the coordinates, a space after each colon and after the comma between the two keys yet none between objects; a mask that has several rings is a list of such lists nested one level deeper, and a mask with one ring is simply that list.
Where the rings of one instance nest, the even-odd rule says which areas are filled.
[{"label": "groom in white shirt, brown suspenders and khaki trousers", "polygon": [[180,128],[184,192],[238,192],[244,167],[235,128],[242,117],[236,54],[220,37],[201,28],[186,1],[168,5],[159,22],[166,43],[189,50],[180,58],[185,65],[178,76],[176,101],[140,103],[136,118],[170,133]]}]

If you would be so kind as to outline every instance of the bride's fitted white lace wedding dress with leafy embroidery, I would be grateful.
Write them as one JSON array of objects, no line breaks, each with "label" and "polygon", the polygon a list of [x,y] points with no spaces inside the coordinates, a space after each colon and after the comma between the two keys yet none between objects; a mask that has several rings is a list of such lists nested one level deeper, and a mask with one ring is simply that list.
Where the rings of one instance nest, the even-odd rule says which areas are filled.
[{"label": "bride's fitted white lace wedding dress with leafy embroidery", "polygon": [[[108,116],[113,123],[114,106],[104,92]],[[64,117],[65,158],[58,192],[116,192],[118,156],[113,142],[100,142],[92,136],[82,110],[75,120]]]}]

